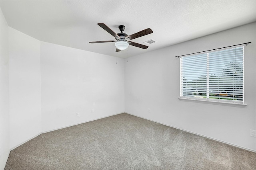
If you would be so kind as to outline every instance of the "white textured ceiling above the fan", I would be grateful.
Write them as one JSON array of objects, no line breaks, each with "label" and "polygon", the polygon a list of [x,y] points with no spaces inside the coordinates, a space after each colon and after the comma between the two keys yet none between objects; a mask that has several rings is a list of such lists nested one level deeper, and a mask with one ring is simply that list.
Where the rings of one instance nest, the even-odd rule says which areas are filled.
[{"label": "white textured ceiling above the fan", "polygon": [[[0,0],[8,25],[40,41],[127,58],[256,21],[256,0]],[[131,35],[146,28],[148,49],[115,52],[115,40],[97,23]],[[146,45],[146,44],[144,44]]]}]

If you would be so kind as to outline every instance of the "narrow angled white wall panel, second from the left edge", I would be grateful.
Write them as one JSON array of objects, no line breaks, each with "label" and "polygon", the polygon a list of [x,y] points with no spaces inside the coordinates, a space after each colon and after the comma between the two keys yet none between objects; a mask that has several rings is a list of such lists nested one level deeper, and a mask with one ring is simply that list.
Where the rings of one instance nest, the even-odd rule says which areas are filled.
[{"label": "narrow angled white wall panel, second from the left edge", "polygon": [[40,41],[9,27],[10,148],[41,133]]}]

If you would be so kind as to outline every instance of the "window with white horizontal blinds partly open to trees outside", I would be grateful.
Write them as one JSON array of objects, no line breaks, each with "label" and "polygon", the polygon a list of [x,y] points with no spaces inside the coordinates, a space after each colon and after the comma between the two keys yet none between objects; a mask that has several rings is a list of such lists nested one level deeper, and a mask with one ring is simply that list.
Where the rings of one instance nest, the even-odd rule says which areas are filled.
[{"label": "window with white horizontal blinds partly open to trees outside", "polygon": [[180,58],[180,97],[244,103],[244,47]]}]

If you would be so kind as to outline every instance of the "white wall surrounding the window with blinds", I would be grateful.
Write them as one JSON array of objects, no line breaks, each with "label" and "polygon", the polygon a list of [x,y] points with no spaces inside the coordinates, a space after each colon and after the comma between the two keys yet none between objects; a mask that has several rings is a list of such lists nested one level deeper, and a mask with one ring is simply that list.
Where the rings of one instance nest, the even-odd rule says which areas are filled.
[{"label": "white wall surrounding the window with blinds", "polygon": [[[125,112],[255,151],[255,23],[187,41],[125,63]],[[252,41],[244,49],[244,108],[182,102],[180,59],[185,55]],[[154,45],[154,44],[152,44]],[[148,112],[148,108],[151,112]]]}]

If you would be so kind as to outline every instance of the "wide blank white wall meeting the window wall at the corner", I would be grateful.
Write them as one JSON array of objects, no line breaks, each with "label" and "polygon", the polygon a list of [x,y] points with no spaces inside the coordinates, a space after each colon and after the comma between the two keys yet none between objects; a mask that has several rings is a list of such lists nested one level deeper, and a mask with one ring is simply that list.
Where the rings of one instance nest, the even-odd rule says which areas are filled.
[{"label": "wide blank white wall meeting the window wall at the corner", "polygon": [[124,112],[121,58],[41,42],[41,85],[43,132]]}]

